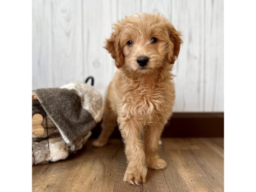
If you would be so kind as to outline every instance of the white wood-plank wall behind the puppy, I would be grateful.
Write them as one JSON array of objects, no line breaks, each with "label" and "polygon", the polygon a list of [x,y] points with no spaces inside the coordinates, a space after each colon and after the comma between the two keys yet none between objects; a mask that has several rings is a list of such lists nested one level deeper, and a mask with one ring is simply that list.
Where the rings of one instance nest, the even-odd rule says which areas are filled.
[{"label": "white wood-plank wall behind the puppy", "polygon": [[102,48],[111,25],[160,12],[183,34],[173,73],[174,111],[224,111],[223,0],[33,0],[32,88],[95,78],[102,94],[116,68]]}]

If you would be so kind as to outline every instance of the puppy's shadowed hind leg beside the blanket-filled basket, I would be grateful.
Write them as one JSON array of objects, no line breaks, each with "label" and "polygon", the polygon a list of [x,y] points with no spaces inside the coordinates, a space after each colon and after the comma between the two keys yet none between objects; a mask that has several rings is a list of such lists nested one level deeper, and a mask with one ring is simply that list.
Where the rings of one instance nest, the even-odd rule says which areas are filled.
[{"label": "puppy's shadowed hind leg beside the blanket-filled basket", "polygon": [[116,113],[111,110],[110,103],[106,100],[101,125],[102,132],[99,138],[93,142],[94,147],[102,147],[108,143],[108,138],[111,136],[116,126],[116,120]]}]

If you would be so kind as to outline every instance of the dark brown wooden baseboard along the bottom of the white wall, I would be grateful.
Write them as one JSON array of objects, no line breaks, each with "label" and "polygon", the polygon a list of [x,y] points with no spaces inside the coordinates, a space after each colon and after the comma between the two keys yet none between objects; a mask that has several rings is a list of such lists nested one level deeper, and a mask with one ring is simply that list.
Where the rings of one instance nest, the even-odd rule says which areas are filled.
[{"label": "dark brown wooden baseboard along the bottom of the white wall", "polygon": [[[100,134],[100,123],[91,138]],[[173,113],[162,137],[224,137],[224,113]],[[116,127],[111,138],[121,138]]]}]

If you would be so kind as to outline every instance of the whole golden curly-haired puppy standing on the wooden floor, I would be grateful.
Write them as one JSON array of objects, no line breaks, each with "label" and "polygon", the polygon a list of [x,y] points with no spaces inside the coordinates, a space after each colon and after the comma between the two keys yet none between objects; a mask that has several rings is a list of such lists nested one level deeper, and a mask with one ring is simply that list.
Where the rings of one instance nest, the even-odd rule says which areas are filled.
[{"label": "whole golden curly-haired puppy standing on the wooden floor", "polygon": [[102,132],[93,146],[106,145],[118,122],[128,183],[145,182],[147,168],[166,168],[157,148],[174,105],[170,71],[180,51],[180,35],[163,16],[139,13],[114,24],[106,41],[118,70],[108,86]]}]

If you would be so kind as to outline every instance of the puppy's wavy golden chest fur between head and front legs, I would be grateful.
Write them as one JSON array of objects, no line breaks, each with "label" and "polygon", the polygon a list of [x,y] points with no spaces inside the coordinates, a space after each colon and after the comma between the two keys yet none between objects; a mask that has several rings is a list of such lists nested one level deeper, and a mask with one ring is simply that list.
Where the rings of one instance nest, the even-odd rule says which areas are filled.
[{"label": "puppy's wavy golden chest fur between head and front legs", "polygon": [[119,115],[130,119],[133,116],[144,122],[168,119],[172,113],[175,90],[172,81],[123,82],[119,87]]}]

